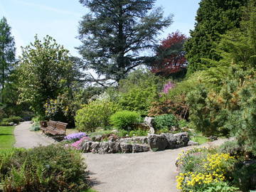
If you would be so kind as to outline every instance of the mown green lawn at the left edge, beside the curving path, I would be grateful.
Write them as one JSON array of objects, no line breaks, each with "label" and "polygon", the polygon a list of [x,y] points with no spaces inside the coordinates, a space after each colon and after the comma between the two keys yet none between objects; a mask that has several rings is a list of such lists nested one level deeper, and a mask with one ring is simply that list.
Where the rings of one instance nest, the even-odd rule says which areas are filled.
[{"label": "mown green lawn at the left edge, beside the curving path", "polygon": [[0,126],[0,149],[9,149],[14,146],[14,126]]}]

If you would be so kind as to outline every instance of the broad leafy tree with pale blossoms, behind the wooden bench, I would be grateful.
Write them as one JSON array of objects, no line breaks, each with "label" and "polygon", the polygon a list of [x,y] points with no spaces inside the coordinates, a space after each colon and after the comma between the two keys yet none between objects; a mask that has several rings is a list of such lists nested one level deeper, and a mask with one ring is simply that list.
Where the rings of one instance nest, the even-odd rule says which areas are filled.
[{"label": "broad leafy tree with pale blossoms, behind the wooden bench", "polygon": [[31,46],[23,48],[18,66],[19,102],[29,102],[37,115],[45,117],[43,105],[70,90],[75,78],[74,63],[68,50],[46,36],[43,42],[37,36]]}]

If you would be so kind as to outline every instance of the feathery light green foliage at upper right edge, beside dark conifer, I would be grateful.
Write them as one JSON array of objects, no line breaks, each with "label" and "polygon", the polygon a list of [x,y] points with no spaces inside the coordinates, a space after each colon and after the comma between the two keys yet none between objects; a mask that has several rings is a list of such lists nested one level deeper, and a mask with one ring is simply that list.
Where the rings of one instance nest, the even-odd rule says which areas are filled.
[{"label": "feathery light green foliage at upper right edge, beside dark conifer", "polygon": [[235,28],[221,36],[217,51],[222,60],[220,63],[236,63],[242,68],[256,67],[256,6],[250,1],[243,9],[240,28]]}]

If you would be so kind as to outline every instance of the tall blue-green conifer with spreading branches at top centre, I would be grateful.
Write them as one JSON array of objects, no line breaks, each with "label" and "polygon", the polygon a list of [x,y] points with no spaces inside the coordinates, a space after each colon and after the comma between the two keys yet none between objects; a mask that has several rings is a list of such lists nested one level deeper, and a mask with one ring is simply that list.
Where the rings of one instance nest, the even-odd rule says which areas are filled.
[{"label": "tall blue-green conifer with spreading branches at top centre", "polygon": [[86,67],[118,82],[144,64],[147,57],[141,51],[153,48],[159,31],[172,23],[160,8],[152,11],[155,1],[80,0],[90,9],[79,28],[78,49]]}]

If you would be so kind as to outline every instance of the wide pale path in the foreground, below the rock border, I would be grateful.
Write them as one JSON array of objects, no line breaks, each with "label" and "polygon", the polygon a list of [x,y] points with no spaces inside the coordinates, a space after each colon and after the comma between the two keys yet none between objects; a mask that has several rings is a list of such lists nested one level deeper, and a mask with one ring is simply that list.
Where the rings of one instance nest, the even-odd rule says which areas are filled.
[{"label": "wide pale path in the foreground, below the rock border", "polygon": [[[220,139],[201,146],[219,145]],[[83,154],[93,188],[99,192],[176,192],[175,161],[187,146],[138,154]]]}]

